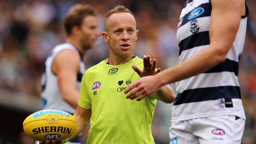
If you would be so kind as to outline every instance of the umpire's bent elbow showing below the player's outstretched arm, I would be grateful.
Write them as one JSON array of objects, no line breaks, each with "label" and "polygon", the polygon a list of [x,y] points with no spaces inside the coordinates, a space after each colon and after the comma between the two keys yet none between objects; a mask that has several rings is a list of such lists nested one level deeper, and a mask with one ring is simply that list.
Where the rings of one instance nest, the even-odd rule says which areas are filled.
[{"label": "umpire's bent elbow showing below the player's outstretched arm", "polygon": [[161,100],[164,103],[172,103],[175,99],[173,89],[170,85],[161,87],[154,94],[158,100]]}]

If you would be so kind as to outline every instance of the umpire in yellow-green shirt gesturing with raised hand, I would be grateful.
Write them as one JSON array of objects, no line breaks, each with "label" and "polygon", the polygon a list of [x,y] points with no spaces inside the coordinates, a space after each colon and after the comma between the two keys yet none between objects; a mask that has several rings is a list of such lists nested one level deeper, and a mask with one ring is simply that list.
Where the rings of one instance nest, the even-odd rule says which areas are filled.
[{"label": "umpire in yellow-green shirt gesturing with raised hand", "polygon": [[[156,60],[133,55],[138,30],[133,13],[124,6],[108,11],[102,37],[108,43],[109,58],[86,70],[74,117],[76,137],[91,123],[87,144],[154,144],[151,123],[156,100],[172,103],[169,85],[142,100],[126,99],[124,90],[142,76],[160,72]],[[139,89],[139,88],[138,88]],[[137,93],[141,95],[141,93]],[[67,140],[64,140],[67,141]]]}]

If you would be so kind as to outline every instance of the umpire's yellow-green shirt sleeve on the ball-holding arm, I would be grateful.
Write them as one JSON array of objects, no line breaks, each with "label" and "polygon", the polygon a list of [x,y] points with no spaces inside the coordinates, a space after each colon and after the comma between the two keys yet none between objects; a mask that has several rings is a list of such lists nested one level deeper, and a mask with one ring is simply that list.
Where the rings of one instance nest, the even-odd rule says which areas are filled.
[{"label": "umpire's yellow-green shirt sleeve on the ball-holding arm", "polygon": [[91,98],[88,94],[86,79],[88,78],[87,72],[83,74],[81,88],[80,88],[80,98],[78,101],[78,105],[84,109],[91,109]]}]

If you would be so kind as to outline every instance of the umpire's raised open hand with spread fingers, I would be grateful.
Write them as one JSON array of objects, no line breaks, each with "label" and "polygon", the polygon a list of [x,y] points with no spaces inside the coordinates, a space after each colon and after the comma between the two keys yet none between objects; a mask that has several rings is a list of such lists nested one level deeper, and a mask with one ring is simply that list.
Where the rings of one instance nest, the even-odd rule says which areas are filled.
[{"label": "umpire's raised open hand with spread fingers", "polygon": [[160,72],[160,68],[156,70],[156,59],[153,59],[153,64],[151,63],[150,55],[143,55],[143,70],[140,70],[137,66],[132,65],[132,68],[140,77],[152,76]]}]

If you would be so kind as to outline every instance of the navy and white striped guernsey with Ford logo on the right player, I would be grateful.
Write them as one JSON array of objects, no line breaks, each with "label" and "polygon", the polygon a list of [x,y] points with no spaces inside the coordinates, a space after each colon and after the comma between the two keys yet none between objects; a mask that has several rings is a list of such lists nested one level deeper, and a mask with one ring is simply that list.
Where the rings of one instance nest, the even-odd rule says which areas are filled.
[{"label": "navy and white striped guernsey with Ford logo on the right player", "polygon": [[[246,16],[241,17],[236,38],[224,63],[176,82],[173,122],[216,115],[235,115],[245,119],[237,76],[245,41],[247,15],[246,8]],[[188,0],[183,6],[177,30],[180,47],[178,63],[209,46],[210,17],[210,0]]]}]

